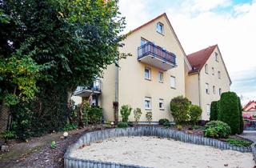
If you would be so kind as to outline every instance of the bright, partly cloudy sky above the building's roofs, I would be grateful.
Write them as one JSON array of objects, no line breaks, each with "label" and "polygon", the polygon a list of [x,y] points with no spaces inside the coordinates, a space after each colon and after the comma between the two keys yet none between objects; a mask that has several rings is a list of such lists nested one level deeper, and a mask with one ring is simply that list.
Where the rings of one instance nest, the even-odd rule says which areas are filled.
[{"label": "bright, partly cloudy sky above the building's roofs", "polygon": [[256,100],[256,0],[120,0],[126,32],[166,13],[186,54],[218,44],[242,102]]}]

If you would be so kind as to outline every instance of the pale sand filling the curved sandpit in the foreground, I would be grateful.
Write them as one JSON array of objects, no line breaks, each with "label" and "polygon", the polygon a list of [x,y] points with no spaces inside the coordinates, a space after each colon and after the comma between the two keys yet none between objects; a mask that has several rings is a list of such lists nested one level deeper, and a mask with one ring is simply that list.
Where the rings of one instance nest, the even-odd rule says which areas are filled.
[{"label": "pale sand filling the curved sandpit in the foreground", "polygon": [[122,137],[75,150],[72,157],[150,167],[254,167],[253,155],[155,137]]}]

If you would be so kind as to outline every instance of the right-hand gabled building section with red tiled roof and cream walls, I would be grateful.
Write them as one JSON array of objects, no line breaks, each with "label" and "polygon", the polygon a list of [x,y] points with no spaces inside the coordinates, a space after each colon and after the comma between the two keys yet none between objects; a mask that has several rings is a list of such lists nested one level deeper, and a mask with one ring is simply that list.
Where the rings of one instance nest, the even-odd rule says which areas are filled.
[{"label": "right-hand gabled building section with red tiled roof and cream walls", "polygon": [[192,70],[186,68],[186,97],[201,106],[202,119],[210,118],[210,103],[230,90],[231,79],[218,45],[187,55]]}]

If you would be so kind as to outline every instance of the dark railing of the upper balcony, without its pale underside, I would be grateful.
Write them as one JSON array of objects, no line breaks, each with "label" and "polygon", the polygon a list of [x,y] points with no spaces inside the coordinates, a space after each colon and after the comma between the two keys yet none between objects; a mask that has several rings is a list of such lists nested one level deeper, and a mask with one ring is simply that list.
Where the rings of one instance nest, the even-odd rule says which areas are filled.
[{"label": "dark railing of the upper balcony, without its pale underside", "polygon": [[143,46],[138,47],[138,59],[147,55],[161,59],[163,62],[169,62],[176,65],[176,56],[160,46],[154,45],[153,42],[146,42]]}]

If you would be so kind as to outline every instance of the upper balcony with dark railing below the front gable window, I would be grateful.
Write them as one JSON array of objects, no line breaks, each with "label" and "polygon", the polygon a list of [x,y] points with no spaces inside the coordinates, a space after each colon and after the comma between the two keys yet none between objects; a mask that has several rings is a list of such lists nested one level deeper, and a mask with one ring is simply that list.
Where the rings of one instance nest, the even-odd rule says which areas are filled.
[{"label": "upper balcony with dark railing below the front gable window", "polygon": [[161,70],[170,70],[176,65],[176,56],[160,46],[147,42],[138,47],[138,61],[155,66]]}]

